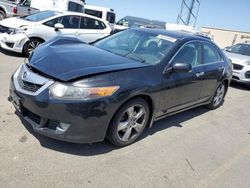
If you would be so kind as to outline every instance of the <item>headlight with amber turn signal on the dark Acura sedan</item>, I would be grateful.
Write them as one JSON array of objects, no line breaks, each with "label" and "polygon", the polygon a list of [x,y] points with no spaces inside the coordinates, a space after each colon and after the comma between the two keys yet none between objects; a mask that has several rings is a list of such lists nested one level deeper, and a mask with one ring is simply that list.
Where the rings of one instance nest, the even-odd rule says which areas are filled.
[{"label": "headlight with amber turn signal on the dark Acura sedan", "polygon": [[50,96],[66,100],[91,100],[112,96],[119,88],[119,86],[85,88],[55,83],[50,87]]}]

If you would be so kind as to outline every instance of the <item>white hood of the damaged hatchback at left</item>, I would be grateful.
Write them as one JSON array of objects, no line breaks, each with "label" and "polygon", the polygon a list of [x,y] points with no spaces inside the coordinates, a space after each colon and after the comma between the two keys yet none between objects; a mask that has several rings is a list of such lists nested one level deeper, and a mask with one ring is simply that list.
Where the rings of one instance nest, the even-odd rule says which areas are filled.
[{"label": "white hood of the damaged hatchback at left", "polygon": [[36,22],[30,22],[19,17],[7,18],[0,22],[0,25],[9,28],[20,28],[24,26],[31,26],[34,25]]}]

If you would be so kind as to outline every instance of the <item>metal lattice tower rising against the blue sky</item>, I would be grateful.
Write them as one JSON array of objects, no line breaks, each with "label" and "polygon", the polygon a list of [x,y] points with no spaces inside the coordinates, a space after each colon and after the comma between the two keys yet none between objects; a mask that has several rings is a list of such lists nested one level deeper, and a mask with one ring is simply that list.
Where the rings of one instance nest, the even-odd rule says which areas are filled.
[{"label": "metal lattice tower rising against the blue sky", "polygon": [[196,25],[201,0],[182,0],[181,11],[177,17],[177,24]]}]

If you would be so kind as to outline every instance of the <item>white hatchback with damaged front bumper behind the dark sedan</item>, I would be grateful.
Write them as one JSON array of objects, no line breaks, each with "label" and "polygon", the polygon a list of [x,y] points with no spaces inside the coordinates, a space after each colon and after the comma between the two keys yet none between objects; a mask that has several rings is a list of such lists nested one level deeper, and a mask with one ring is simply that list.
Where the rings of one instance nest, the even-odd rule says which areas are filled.
[{"label": "white hatchback with damaged front bumper behind the dark sedan", "polygon": [[75,12],[43,11],[0,22],[0,44],[5,50],[27,56],[41,43],[60,35],[76,36],[86,43],[110,35],[108,23]]}]

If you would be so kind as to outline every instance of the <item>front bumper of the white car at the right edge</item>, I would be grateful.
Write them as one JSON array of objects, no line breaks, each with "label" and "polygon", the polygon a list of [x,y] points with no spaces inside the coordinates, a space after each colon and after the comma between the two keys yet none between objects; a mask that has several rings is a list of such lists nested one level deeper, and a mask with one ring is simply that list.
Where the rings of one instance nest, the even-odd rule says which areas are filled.
[{"label": "front bumper of the white car at the right edge", "polygon": [[234,64],[232,81],[250,85],[250,65]]}]

